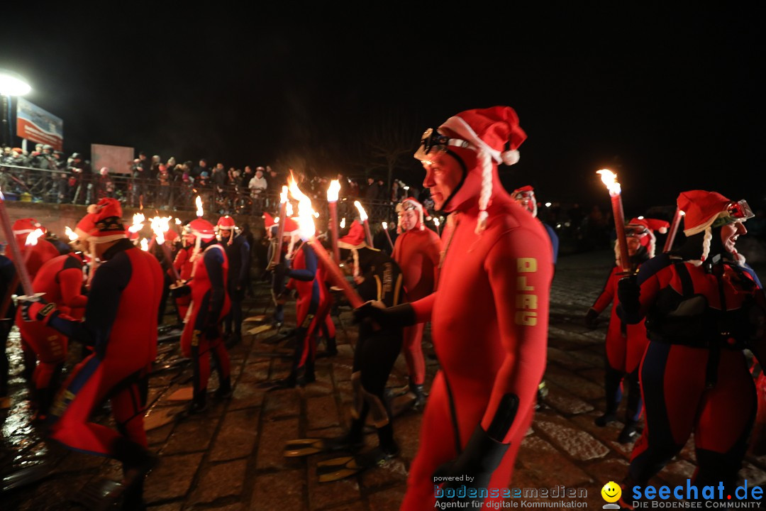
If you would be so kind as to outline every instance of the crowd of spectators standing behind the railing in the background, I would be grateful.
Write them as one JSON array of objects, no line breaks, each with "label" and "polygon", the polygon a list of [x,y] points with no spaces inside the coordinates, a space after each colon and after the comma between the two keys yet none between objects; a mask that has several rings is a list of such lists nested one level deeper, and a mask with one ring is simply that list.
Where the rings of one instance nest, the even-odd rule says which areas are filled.
[{"label": "crowd of spectators standing behind the railing in the background", "polygon": [[[32,170],[39,169],[36,175]],[[0,186],[16,195],[28,195],[31,201],[86,205],[103,197],[114,197],[131,207],[157,209],[191,208],[196,195],[205,204],[214,204],[221,214],[274,211],[278,207],[281,187],[286,175],[269,165],[246,165],[243,169],[223,163],[209,165],[207,159],[198,162],[177,162],[171,157],[165,162],[160,156],[149,157],[146,152],[127,163],[128,172],[113,172],[106,167],[92,169],[90,162],[74,152],[66,156],[52,146],[38,144],[33,152],[6,147],[0,154]],[[307,177],[296,172],[301,188],[313,199],[324,201],[329,178]],[[341,198],[358,199],[367,205],[394,205],[405,196],[427,203],[430,198],[394,180],[391,188],[383,179],[339,179]]]}]

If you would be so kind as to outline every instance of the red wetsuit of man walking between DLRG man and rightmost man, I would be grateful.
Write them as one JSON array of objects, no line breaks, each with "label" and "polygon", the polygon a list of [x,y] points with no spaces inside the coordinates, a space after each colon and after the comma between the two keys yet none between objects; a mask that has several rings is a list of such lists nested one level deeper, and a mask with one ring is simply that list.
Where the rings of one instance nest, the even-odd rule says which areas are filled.
[{"label": "red wetsuit of man walking between DLRG man and rightmost man", "polygon": [[607,371],[604,375],[607,392],[607,415],[614,415],[617,406],[622,400],[622,381],[626,378],[629,385],[627,402],[627,421],[638,421],[641,415],[641,392],[638,381],[638,365],[643,358],[643,352],[647,351],[649,339],[647,339],[647,327],[643,320],[635,325],[624,323],[617,316],[617,282],[624,275],[620,275],[622,269],[614,267],[609,274],[604,290],[598,296],[591,307],[597,313],[601,313],[612,303],[612,311],[609,316],[609,328],[607,329],[606,353]]}]

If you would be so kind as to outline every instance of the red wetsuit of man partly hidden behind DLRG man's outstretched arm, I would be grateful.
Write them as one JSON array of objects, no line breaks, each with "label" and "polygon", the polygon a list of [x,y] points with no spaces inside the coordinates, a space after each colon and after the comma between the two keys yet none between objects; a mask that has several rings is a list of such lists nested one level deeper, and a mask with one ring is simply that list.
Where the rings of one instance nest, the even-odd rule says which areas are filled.
[{"label": "red wetsuit of man partly hidden behind DLRG man's outstretched arm", "polygon": [[[430,229],[417,225],[400,234],[394,244],[394,260],[404,277],[405,300],[414,302],[425,298],[436,289],[439,279],[439,236]],[[426,365],[421,341],[424,323],[404,328],[404,359],[411,382],[423,385]]]}]

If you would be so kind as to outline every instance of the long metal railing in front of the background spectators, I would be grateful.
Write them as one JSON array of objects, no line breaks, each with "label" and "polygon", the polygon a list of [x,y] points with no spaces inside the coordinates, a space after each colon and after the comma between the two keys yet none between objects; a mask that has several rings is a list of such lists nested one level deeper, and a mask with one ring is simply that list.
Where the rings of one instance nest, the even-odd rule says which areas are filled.
[{"label": "long metal railing in front of the background spectators", "polygon": [[[158,211],[194,211],[195,198],[202,198],[205,211],[217,215],[261,215],[279,209],[279,194],[262,192],[251,194],[238,185],[217,186],[209,183],[137,179],[126,174],[83,174],[71,169],[34,169],[19,165],[0,164],[0,188],[6,200],[48,204],[93,204],[104,197],[119,200],[126,208],[149,208]],[[305,191],[309,193],[308,191]],[[312,197],[321,218],[328,218],[326,198],[316,193]],[[356,197],[340,198],[338,218],[358,216],[354,201],[364,205],[371,221],[394,221],[394,204],[389,201],[368,201]]]}]

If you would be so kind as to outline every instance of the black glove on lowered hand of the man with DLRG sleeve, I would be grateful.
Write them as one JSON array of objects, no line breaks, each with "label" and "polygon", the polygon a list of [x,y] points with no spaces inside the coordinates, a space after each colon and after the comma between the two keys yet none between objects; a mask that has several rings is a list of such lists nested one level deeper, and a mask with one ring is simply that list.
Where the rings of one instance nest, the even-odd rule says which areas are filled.
[{"label": "black glove on lowered hand of the man with DLRG sleeve", "polygon": [[[478,500],[483,501],[483,498],[478,496],[470,496],[470,488],[486,488],[489,486],[489,480],[492,477],[492,473],[499,466],[502,457],[506,454],[506,451],[510,447],[510,444],[501,444],[500,442],[489,437],[481,427],[481,424],[476,426],[476,430],[473,431],[466,448],[452,461],[440,465],[434,472],[434,484],[440,484],[444,482],[442,490],[447,488],[453,488],[457,496],[465,497],[461,498],[463,502]],[[448,480],[444,478],[456,477],[460,480]],[[466,486],[466,491],[463,493],[461,486]],[[451,493],[451,492],[450,492]],[[452,499],[440,499],[443,502],[449,502]],[[457,500],[454,499],[454,500]]]}]

